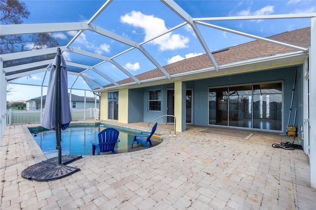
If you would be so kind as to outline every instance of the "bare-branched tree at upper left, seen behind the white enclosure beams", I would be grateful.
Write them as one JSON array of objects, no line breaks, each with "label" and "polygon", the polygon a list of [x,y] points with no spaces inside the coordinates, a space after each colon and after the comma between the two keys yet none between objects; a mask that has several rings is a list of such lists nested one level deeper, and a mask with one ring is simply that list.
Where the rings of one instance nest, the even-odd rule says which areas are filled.
[{"label": "bare-branched tree at upper left, seen behind the white enclosure beams", "polygon": [[[27,5],[19,0],[0,0],[0,24],[22,24],[30,12]],[[0,36],[0,54],[43,49],[59,45],[51,34],[5,35]]]}]

